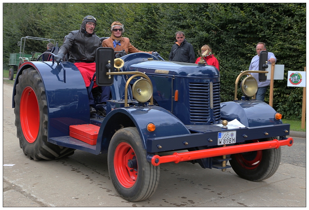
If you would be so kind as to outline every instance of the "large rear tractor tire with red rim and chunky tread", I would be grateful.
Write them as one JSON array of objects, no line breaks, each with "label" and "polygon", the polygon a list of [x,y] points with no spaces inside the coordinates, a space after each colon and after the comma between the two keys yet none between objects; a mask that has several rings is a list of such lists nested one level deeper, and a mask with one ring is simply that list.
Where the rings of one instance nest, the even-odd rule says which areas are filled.
[{"label": "large rear tractor tire with red rim and chunky tread", "polygon": [[23,70],[18,81],[14,113],[17,137],[23,153],[34,160],[53,160],[74,154],[75,149],[47,142],[47,100],[36,69]]}]

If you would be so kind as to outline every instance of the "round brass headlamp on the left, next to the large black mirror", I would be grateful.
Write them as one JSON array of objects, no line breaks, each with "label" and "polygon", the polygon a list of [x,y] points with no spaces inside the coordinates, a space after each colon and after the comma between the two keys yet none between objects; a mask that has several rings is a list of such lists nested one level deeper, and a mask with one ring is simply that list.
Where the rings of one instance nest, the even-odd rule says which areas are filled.
[{"label": "round brass headlamp on the left, next to the large black mirror", "polygon": [[132,86],[132,95],[138,102],[146,102],[152,96],[152,85],[146,79],[138,79]]}]

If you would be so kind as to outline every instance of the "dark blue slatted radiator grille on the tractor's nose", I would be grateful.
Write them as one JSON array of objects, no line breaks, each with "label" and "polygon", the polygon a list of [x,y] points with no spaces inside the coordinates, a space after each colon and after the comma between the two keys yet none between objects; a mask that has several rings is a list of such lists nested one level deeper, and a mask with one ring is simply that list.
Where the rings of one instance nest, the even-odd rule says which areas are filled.
[{"label": "dark blue slatted radiator grille on the tractor's nose", "polygon": [[220,121],[220,83],[189,83],[189,107],[192,123]]}]

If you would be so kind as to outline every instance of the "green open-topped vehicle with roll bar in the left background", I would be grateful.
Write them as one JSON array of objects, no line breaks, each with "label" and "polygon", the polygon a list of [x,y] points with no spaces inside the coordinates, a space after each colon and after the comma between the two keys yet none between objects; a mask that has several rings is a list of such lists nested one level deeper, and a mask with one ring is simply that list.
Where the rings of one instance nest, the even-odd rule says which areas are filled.
[{"label": "green open-topped vehicle with roll bar in the left background", "polygon": [[31,52],[31,54],[26,54],[24,51],[27,39],[52,42],[55,45],[55,40],[53,39],[46,39],[32,36],[22,37],[20,41],[17,43],[17,45],[20,46],[19,52],[10,53],[9,65],[11,66],[11,68],[9,69],[9,80],[13,80],[14,73],[17,73],[17,70],[19,69],[20,65],[22,65],[26,61],[36,61],[36,59],[42,54],[42,52]]}]

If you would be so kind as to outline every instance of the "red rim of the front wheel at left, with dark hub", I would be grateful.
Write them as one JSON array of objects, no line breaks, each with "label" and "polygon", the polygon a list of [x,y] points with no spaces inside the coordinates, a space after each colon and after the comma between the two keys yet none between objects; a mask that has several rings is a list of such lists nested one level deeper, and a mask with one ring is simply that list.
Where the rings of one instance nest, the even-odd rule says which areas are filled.
[{"label": "red rim of the front wheel at left, with dark hub", "polygon": [[134,150],[128,143],[121,142],[117,145],[114,154],[114,168],[119,183],[125,188],[132,187],[136,182],[137,167],[130,168],[128,166],[128,162],[135,158]]}]

